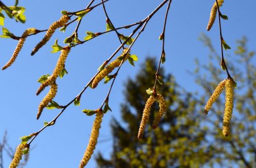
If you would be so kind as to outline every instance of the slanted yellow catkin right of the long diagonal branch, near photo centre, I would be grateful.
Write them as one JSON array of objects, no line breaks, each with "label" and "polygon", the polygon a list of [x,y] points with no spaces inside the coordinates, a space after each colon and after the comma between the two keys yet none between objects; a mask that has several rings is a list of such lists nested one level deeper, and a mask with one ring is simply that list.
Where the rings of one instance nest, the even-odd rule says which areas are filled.
[{"label": "slanted yellow catkin right of the long diagonal branch, near photo centre", "polygon": [[[123,56],[123,54],[126,53],[126,51],[127,51],[127,48],[125,48],[125,49],[123,50],[123,53],[122,53],[121,57]],[[125,57],[125,60],[124,60],[124,61],[126,61],[126,59],[127,59],[128,57],[130,57],[130,53],[129,53],[129,52],[126,54],[126,57]],[[107,76],[108,74],[110,74],[110,73],[114,70],[114,68],[118,67],[121,62],[122,62],[122,59],[118,59],[118,58],[117,58],[117,59],[115,59],[113,62],[111,62],[110,64],[108,64],[108,66],[106,66],[103,70],[101,70],[101,72],[100,72],[100,73],[94,78],[94,80],[92,81],[92,88],[93,88],[93,89],[96,88],[97,85],[98,85],[98,83],[99,83],[102,79],[104,79],[105,76]]]}]

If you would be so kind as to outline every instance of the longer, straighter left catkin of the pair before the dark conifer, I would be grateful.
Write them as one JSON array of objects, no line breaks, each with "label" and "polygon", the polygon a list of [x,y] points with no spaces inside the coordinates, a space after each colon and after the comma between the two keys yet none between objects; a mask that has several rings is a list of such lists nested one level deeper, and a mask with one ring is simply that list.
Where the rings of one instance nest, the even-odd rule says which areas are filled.
[{"label": "longer, straighter left catkin of the pair before the dark conifer", "polygon": [[154,104],[155,100],[156,100],[156,98],[152,95],[147,99],[147,102],[146,102],[146,105],[144,107],[143,114],[142,114],[141,124],[139,126],[138,139],[142,139],[142,135],[143,135],[143,132],[145,130],[145,127],[146,127],[146,124],[148,122],[148,118],[150,115],[151,106],[152,106],[152,104]]}]

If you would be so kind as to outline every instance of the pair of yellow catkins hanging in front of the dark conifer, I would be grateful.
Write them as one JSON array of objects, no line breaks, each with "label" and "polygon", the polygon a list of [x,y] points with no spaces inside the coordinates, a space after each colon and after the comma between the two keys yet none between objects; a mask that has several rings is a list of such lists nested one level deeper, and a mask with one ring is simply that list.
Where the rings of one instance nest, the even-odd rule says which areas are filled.
[{"label": "pair of yellow catkins hanging in front of the dark conifer", "polygon": [[143,132],[145,130],[148,118],[150,116],[151,106],[154,104],[156,100],[158,100],[159,102],[159,111],[155,117],[154,123],[152,124],[152,128],[155,129],[158,126],[160,119],[163,117],[164,112],[166,112],[166,101],[164,100],[162,94],[156,94],[156,96],[152,94],[147,99],[146,105],[143,110],[141,124],[139,126],[138,139],[142,139]]}]

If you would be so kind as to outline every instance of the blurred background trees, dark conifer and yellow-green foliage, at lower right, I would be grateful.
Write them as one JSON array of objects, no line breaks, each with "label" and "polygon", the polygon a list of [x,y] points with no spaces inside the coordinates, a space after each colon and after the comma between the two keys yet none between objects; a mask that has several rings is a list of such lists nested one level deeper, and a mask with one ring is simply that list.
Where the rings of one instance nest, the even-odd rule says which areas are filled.
[{"label": "blurred background trees, dark conifer and yellow-green foliage, at lower right", "polygon": [[[214,88],[225,79],[210,39],[202,35],[200,40],[209,48],[209,63],[200,64],[190,72],[195,76],[201,90],[190,93],[175,82],[174,76],[161,76],[165,82],[159,87],[166,98],[168,110],[159,127],[152,130],[151,124],[158,105],[151,109],[150,122],[142,140],[137,139],[144,104],[149,97],[146,89],[154,85],[156,62],[147,58],[135,79],[125,85],[125,102],[122,106],[122,122],[113,118],[113,152],[108,160],[98,153],[98,167],[256,167],[256,68],[255,53],[246,46],[246,38],[238,40],[237,50],[228,62],[234,80],[234,111],[232,133],[222,135],[222,117],[225,94],[213,105],[208,115],[204,106]],[[230,57],[230,56],[229,56]],[[205,75],[204,73],[207,73]]]}]

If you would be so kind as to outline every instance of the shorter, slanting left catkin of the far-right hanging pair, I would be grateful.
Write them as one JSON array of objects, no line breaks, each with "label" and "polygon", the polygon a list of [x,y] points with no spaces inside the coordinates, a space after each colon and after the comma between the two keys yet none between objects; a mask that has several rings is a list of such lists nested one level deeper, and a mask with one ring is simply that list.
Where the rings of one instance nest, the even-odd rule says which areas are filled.
[{"label": "shorter, slanting left catkin of the far-right hanging pair", "polygon": [[216,87],[216,89],[212,93],[212,96],[210,96],[207,104],[204,107],[204,114],[205,115],[208,114],[208,112],[210,110],[210,107],[212,107],[213,103],[218,99],[218,97],[220,97],[221,92],[225,88],[226,81],[227,81],[227,79],[221,81],[221,83],[218,84],[218,86]]}]

